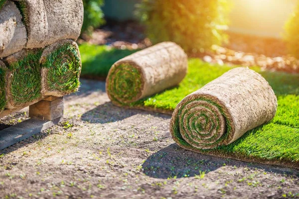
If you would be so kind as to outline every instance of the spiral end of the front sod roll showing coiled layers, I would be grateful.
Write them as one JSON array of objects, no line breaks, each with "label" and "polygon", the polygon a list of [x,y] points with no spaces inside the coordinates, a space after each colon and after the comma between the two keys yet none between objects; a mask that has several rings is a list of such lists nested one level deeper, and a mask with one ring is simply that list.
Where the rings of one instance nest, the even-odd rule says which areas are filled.
[{"label": "spiral end of the front sod roll showing coiled layers", "polygon": [[224,144],[232,130],[232,121],[226,111],[212,96],[194,96],[183,101],[172,125],[174,139],[199,149]]}]

